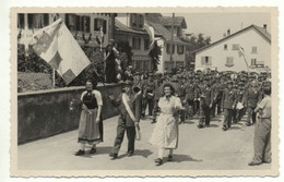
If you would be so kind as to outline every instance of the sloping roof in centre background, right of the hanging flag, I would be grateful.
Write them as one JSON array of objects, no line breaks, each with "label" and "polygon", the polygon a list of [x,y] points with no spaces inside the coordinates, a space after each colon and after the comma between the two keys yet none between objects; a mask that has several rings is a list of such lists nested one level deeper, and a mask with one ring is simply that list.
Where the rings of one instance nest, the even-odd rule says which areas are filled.
[{"label": "sloping roof in centre background, right of the hanging flag", "polygon": [[[154,22],[147,22],[147,24],[154,28],[155,35],[162,35],[167,41],[171,40],[171,34],[164,25]],[[174,43],[187,44],[185,41],[181,41],[177,36],[174,36],[173,39]]]}]

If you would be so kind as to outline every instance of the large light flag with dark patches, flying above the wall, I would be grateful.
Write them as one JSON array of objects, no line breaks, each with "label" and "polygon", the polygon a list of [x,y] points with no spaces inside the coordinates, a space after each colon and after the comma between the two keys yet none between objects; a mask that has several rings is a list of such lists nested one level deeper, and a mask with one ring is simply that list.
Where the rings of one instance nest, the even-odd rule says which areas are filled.
[{"label": "large light flag with dark patches, flying above the wall", "polygon": [[48,62],[67,84],[91,62],[61,19],[34,34],[35,52]]}]

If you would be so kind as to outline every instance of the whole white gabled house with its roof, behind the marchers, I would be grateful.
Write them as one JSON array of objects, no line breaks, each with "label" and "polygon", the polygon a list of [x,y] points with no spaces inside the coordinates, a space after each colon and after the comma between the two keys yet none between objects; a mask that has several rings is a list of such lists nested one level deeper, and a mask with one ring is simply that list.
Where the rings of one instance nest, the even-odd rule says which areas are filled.
[{"label": "whole white gabled house with its roof, behind the marchers", "polygon": [[262,68],[270,69],[271,35],[267,32],[265,25],[263,27],[251,25],[193,53],[196,70],[258,71]]}]

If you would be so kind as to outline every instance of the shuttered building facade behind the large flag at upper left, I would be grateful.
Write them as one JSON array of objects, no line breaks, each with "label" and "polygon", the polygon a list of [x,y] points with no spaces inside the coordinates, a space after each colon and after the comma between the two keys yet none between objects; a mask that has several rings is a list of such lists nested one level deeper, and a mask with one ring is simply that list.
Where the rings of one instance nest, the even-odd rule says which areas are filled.
[{"label": "shuttered building facade behind the large flag at upper left", "polygon": [[111,13],[19,13],[19,44],[32,44],[33,33],[62,19],[80,46],[106,47],[114,37],[114,16]]}]

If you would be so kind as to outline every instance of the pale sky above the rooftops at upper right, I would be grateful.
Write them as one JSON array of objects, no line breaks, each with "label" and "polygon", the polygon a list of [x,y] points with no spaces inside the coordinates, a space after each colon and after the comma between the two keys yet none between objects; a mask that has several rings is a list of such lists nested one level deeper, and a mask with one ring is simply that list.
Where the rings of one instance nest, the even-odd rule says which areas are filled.
[{"label": "pale sky above the rooftops at upper right", "polygon": [[[171,16],[169,13],[163,13],[165,16]],[[175,16],[184,16],[187,22],[187,32],[204,36],[211,36],[211,43],[223,38],[223,34],[230,29],[234,34],[251,24],[263,26],[268,25],[268,32],[271,32],[270,13],[175,13]]]}]

